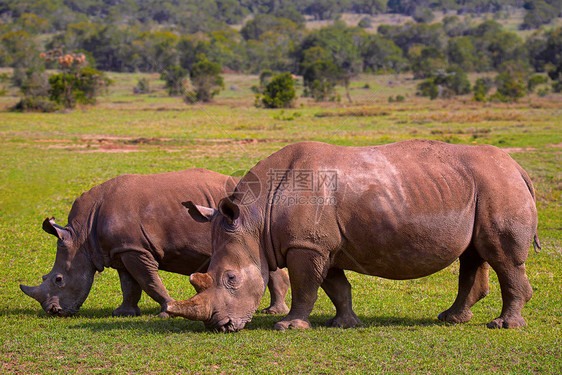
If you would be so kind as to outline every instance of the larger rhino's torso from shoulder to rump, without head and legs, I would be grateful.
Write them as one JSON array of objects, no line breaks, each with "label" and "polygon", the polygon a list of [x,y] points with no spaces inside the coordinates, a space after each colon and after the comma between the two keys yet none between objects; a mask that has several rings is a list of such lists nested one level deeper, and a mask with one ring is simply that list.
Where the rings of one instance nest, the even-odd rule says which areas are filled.
[{"label": "larger rhino's torso from shoulder to rump, without head and legs", "polygon": [[[280,164],[313,171],[317,180],[320,171],[331,171],[337,182],[298,193],[287,184],[267,191],[267,202],[277,196],[266,217],[271,247],[281,252],[278,259],[290,248],[304,247],[325,252],[339,268],[395,279],[425,276],[452,263],[469,246],[477,202],[495,202],[486,208],[509,215],[506,186],[529,201],[517,164],[491,147],[434,141],[374,147],[304,142],[280,153],[253,172],[263,174]],[[295,194],[304,198],[288,204]],[[287,198],[280,200],[283,195]]]}]

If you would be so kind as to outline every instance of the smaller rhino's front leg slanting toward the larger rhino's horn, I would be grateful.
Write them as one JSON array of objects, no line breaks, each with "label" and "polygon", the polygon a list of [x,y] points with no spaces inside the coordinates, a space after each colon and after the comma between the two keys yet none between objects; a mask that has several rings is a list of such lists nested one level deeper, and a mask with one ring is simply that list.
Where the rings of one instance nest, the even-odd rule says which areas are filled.
[{"label": "smaller rhino's front leg slanting toward the larger rhino's horn", "polygon": [[166,306],[168,302],[173,301],[173,298],[168,294],[158,275],[158,262],[154,257],[148,253],[129,251],[121,255],[121,261],[142,290],[160,304],[161,310],[158,316],[167,318],[169,315],[165,312]]}]

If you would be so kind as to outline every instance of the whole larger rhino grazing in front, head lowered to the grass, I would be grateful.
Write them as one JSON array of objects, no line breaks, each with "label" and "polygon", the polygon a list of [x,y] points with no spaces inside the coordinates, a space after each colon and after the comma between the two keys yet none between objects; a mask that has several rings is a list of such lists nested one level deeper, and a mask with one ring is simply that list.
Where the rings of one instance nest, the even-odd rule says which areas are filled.
[{"label": "whole larger rhino grazing in front, head lowered to the grass", "polygon": [[[273,170],[283,178],[268,184]],[[291,190],[291,173],[299,170],[313,171],[315,184],[322,171],[333,171],[337,187]],[[244,204],[256,181],[258,199]],[[298,197],[304,200],[287,204]],[[239,330],[259,303],[268,271],[287,267],[292,306],[276,329],[310,327],[319,287],[336,307],[328,326],[352,327],[360,321],[344,270],[413,279],[460,258],[458,296],[439,319],[470,320],[471,306],[488,293],[491,266],[503,308],[488,327],[525,325],[521,309],[532,295],[525,260],[531,243],[539,245],[534,190],[525,171],[496,147],[296,143],[252,168],[218,210],[187,207],[197,220],[212,222],[213,256],[207,273],[191,278],[200,292],[169,304],[172,315]]]}]

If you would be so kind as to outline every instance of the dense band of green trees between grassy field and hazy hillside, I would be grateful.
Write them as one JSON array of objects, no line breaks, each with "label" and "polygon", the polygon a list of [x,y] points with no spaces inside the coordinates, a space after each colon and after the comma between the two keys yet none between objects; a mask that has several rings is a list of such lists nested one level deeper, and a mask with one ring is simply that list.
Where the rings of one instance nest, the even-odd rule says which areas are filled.
[{"label": "dense band of green trees between grassy field and hazy hillside", "polygon": [[341,21],[307,30],[286,18],[258,15],[237,31],[178,34],[138,27],[89,22],[69,24],[64,32],[41,34],[44,20],[24,15],[0,34],[0,66],[29,69],[42,64],[39,54],[61,49],[82,52],[104,71],[162,72],[170,66],[190,70],[198,56],[227,71],[259,73],[264,69],[302,74],[307,64],[327,61],[352,74],[426,72],[458,65],[467,72],[498,71],[508,62],[545,71],[558,65],[560,29],[537,31],[527,40],[488,20],[472,24],[457,16],[440,23],[381,25],[378,33],[348,27]]}]

